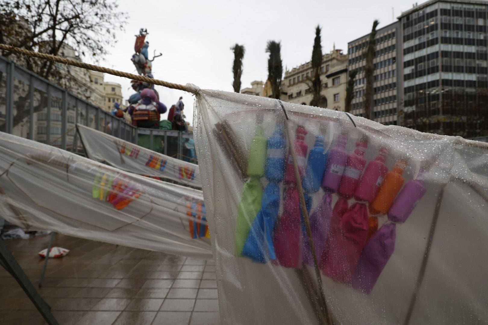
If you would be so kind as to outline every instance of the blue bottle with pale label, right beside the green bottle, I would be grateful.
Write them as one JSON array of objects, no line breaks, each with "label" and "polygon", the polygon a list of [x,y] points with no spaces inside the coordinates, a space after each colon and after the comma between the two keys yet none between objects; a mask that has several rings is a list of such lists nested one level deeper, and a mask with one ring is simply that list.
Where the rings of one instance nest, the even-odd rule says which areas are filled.
[{"label": "blue bottle with pale label, right beside the green bottle", "polygon": [[285,172],[285,135],[283,124],[277,124],[268,138],[266,151],[265,176],[270,182],[280,183]]}]

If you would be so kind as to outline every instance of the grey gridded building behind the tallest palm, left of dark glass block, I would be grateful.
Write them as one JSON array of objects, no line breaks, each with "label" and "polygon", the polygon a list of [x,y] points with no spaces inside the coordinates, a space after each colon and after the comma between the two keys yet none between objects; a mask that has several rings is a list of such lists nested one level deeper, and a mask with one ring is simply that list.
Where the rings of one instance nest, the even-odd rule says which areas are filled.
[{"label": "grey gridded building behind the tallest palm, left of dark glass block", "polygon": [[[398,21],[377,30],[374,53],[374,95],[373,118],[385,125],[397,124],[399,89],[402,85],[401,47],[397,45],[400,23]],[[354,82],[351,113],[364,116],[364,95],[366,89],[364,53],[369,34],[347,44],[347,70],[357,70]],[[366,116],[368,117],[368,116]]]}]

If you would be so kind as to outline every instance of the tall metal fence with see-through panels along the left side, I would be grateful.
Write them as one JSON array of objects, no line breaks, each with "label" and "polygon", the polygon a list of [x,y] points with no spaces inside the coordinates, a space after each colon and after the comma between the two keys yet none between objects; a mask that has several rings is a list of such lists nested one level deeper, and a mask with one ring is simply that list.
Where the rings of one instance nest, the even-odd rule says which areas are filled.
[{"label": "tall metal fence with see-through panels along the left side", "polygon": [[0,131],[81,153],[76,123],[137,139],[136,127],[0,56]]}]

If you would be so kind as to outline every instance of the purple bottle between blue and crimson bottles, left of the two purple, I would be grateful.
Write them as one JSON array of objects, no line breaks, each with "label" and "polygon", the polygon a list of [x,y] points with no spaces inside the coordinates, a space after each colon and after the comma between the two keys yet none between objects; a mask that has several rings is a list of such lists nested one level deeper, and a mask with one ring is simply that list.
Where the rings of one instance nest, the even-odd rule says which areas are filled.
[{"label": "purple bottle between blue and crimson bottles, left of the two purple", "polygon": [[322,178],[322,188],[324,191],[337,191],[341,182],[344,169],[346,168],[346,143],[347,135],[340,134],[336,141],[336,146],[329,152],[327,167],[325,167],[324,177]]}]

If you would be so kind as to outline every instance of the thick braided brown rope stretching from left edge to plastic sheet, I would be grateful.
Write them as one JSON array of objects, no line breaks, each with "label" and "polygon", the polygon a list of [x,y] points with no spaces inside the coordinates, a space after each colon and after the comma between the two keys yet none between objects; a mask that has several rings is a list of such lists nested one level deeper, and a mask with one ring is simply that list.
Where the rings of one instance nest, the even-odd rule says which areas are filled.
[{"label": "thick braided brown rope stretching from left edge to plastic sheet", "polygon": [[92,71],[103,72],[103,73],[106,73],[109,75],[121,76],[124,78],[129,78],[129,79],[133,79],[133,80],[147,82],[150,84],[159,85],[159,86],[163,86],[163,87],[167,87],[167,88],[183,90],[185,92],[189,92],[192,94],[196,93],[196,90],[194,88],[183,86],[183,85],[180,85],[178,83],[172,83],[172,82],[167,82],[167,81],[163,81],[163,80],[153,79],[153,78],[149,78],[146,76],[129,74],[129,73],[126,73],[123,71],[113,70],[113,69],[109,69],[109,68],[105,68],[105,67],[100,67],[98,65],[88,64],[88,63],[76,61],[76,60],[73,60],[70,58],[57,57],[57,56],[54,56],[51,54],[45,54],[45,53],[40,53],[40,52],[33,52],[33,51],[18,48],[15,46],[5,45],[5,44],[0,44],[0,49],[5,50],[5,51],[9,51],[9,52],[13,52],[13,53],[17,53],[17,54],[23,54],[23,55],[26,55],[28,57],[39,57],[39,58],[44,59],[44,60],[59,62],[62,64],[69,64],[69,65],[73,65],[75,67],[88,69],[88,70],[92,70]]}]

